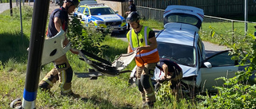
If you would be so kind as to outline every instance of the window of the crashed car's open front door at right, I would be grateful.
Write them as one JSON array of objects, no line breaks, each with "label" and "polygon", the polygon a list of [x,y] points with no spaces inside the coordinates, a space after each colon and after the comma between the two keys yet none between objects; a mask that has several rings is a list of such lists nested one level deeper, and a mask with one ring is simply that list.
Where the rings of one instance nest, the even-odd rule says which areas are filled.
[{"label": "window of the crashed car's open front door at right", "polygon": [[211,56],[207,61],[210,62],[212,67],[234,66],[236,65],[236,61],[231,60],[231,57],[228,52],[224,52]]}]

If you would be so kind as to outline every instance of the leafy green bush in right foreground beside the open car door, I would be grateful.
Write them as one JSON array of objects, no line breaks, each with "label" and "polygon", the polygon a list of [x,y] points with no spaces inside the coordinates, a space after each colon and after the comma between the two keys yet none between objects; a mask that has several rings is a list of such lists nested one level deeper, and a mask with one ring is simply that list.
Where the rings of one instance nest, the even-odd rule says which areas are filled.
[{"label": "leafy green bush in right foreground beside the open car door", "polygon": [[[230,41],[226,37],[230,37],[231,33],[218,33],[212,28],[211,36],[218,38],[222,44],[227,45],[231,49],[230,55],[232,59],[239,60],[240,65],[247,65],[246,71],[236,72],[236,76],[230,79],[220,77],[217,80],[224,80],[225,87],[215,87],[218,89],[217,95],[198,95],[202,99],[205,107],[211,108],[255,108],[256,107],[256,86],[247,84],[250,76],[256,70],[256,42],[251,34],[246,37],[236,34],[238,39]],[[225,36],[225,37],[224,37]]]}]

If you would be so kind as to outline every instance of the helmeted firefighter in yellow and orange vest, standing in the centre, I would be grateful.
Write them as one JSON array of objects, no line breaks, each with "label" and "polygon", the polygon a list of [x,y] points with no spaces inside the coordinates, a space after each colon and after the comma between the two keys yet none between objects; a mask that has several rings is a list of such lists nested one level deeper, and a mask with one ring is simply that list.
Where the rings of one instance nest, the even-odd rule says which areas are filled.
[{"label": "helmeted firefighter in yellow and orange vest, standing in the centre", "polygon": [[156,101],[151,76],[154,76],[154,68],[159,61],[158,44],[155,33],[147,26],[139,24],[137,12],[131,12],[126,18],[132,29],[126,34],[129,45],[127,53],[137,51],[135,62],[137,64],[137,84],[142,95],[143,106],[154,107]]}]

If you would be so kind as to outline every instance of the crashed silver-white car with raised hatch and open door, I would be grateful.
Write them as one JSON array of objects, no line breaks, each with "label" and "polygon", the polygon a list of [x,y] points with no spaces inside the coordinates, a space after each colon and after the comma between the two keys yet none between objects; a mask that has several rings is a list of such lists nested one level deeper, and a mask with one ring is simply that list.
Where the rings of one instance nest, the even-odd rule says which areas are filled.
[{"label": "crashed silver-white car with raised hatch and open door", "polygon": [[[164,17],[164,29],[156,37],[158,53],[161,58],[176,62],[183,72],[182,88],[187,92],[214,90],[213,86],[222,86],[218,77],[234,77],[236,60],[231,60],[229,51],[223,51],[206,59],[205,47],[198,35],[203,21],[203,10],[192,6],[167,6]],[[135,67],[136,68],[136,67]],[[135,69],[130,77],[134,79]],[[152,80],[164,76],[155,68]]]}]

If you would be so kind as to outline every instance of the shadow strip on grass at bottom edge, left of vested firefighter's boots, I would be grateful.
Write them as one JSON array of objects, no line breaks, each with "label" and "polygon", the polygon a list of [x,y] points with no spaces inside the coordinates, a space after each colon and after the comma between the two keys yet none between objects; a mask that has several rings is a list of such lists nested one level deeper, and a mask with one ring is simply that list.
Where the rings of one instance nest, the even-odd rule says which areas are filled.
[{"label": "shadow strip on grass at bottom edge, left of vested firefighter's boots", "polygon": [[94,105],[99,106],[100,108],[110,108],[110,109],[132,109],[132,105],[126,104],[126,106],[117,107],[114,106],[110,101],[102,98],[98,98],[97,96],[92,96],[90,99],[88,98],[82,98],[82,101],[92,101],[94,102]]}]

